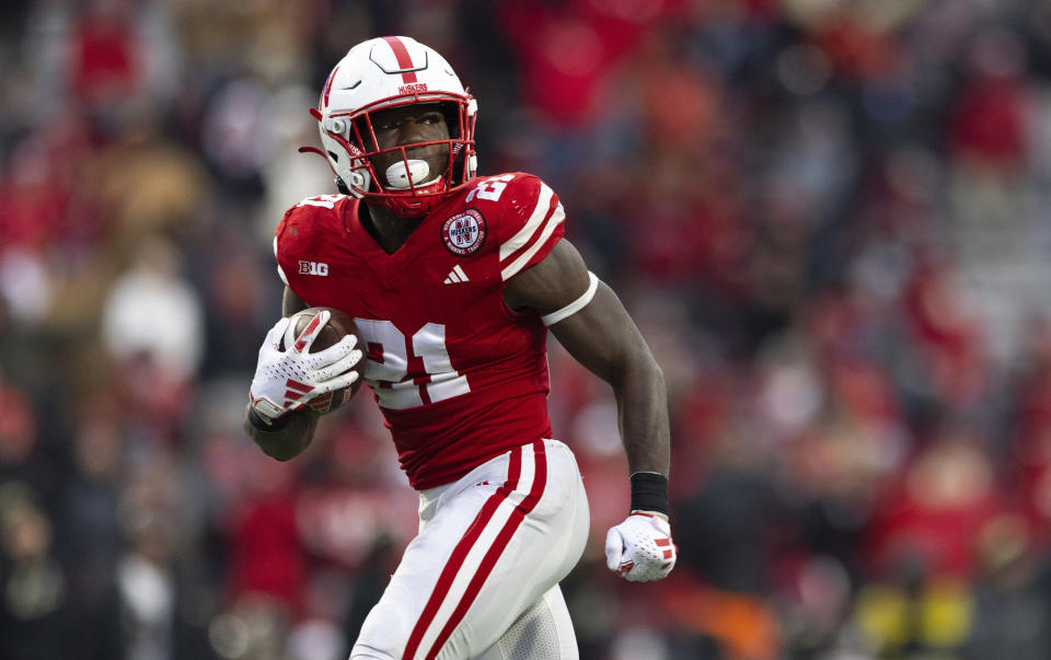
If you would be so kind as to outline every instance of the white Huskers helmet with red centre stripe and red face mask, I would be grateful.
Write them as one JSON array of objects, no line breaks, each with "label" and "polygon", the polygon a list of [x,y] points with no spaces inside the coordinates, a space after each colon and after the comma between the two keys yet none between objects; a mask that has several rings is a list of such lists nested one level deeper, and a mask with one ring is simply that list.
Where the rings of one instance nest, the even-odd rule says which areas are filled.
[{"label": "white Huskers helmet with red centre stripe and red face mask", "polygon": [[[449,139],[373,149],[377,141],[371,113],[414,103],[440,104],[449,125]],[[369,39],[339,60],[325,81],[319,108],[311,108],[320,125],[324,151],[314,147],[300,151],[324,155],[355,197],[369,198],[403,217],[419,217],[474,177],[477,108],[477,102],[435,49],[411,37]],[[406,152],[435,143],[449,147],[448,165],[437,176],[429,173],[426,163],[420,169],[420,161],[409,159]],[[404,166],[391,167],[396,173],[382,173],[386,178],[378,176],[371,157],[392,151],[400,152]]]}]

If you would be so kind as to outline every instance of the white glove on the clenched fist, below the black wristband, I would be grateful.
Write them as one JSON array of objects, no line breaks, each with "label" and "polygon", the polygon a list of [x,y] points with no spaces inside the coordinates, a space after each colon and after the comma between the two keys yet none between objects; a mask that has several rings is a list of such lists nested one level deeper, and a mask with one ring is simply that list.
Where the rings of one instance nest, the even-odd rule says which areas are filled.
[{"label": "white glove on the clenched fist, below the black wristband", "polygon": [[679,548],[660,516],[636,511],[605,534],[605,565],[632,582],[659,580],[675,566]]}]

